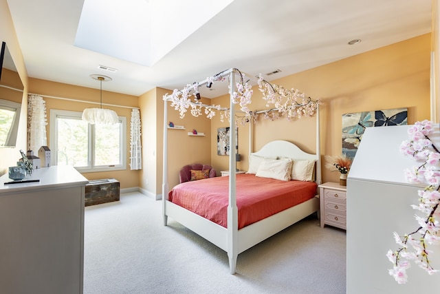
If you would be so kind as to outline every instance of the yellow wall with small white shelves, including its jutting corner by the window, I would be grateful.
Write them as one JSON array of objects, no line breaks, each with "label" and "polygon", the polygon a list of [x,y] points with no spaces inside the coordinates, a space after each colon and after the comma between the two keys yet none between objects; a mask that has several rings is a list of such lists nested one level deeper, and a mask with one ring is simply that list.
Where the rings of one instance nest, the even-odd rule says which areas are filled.
[{"label": "yellow wall with small white shelves, including its jutting corner by the window", "polygon": [[[164,142],[164,101],[165,94],[172,90],[155,88],[140,96],[139,105],[142,117],[142,149],[143,170],[140,176],[139,187],[155,198],[162,195],[163,176],[163,142]],[[202,103],[210,103],[206,98]],[[179,183],[179,171],[184,165],[192,163],[211,164],[210,120],[206,116],[195,118],[186,114],[179,117],[170,103],[167,103],[168,119],[175,125],[183,125],[185,129],[166,129],[168,137],[168,187],[172,188]],[[196,129],[206,136],[188,136],[188,132]]]}]

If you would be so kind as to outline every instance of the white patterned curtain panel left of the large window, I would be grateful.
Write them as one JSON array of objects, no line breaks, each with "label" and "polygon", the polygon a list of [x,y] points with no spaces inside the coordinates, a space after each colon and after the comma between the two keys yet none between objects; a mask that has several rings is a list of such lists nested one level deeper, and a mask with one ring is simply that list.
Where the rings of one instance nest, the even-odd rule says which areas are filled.
[{"label": "white patterned curtain panel left of the large window", "polygon": [[41,146],[47,146],[46,102],[37,95],[28,96],[28,150],[38,156]]}]

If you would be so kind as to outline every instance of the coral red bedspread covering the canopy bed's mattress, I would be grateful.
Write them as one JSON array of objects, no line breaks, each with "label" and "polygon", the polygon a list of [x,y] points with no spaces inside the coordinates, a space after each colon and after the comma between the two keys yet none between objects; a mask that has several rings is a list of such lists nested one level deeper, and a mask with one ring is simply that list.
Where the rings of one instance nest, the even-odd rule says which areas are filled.
[{"label": "coral red bedspread covering the canopy bed's mattress", "polygon": [[[274,180],[254,174],[236,175],[239,229],[316,196],[316,182]],[[203,218],[228,227],[229,177],[184,182],[168,193],[168,200]]]}]

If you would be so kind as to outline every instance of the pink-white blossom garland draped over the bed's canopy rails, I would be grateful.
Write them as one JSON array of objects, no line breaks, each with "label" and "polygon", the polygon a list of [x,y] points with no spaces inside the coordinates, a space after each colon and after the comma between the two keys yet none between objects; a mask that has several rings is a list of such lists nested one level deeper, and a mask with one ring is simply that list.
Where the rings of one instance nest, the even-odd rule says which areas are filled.
[{"label": "pink-white blossom garland draped over the bed's canopy rails", "polygon": [[[246,80],[245,74],[242,74],[239,70],[236,71],[240,74],[239,81],[236,82],[236,91],[232,92],[229,86],[229,92],[230,94],[232,92],[232,103],[239,104],[241,112],[244,113],[244,116],[241,117],[242,125],[249,122],[255,123],[259,114],[263,114],[263,118],[271,120],[284,115],[287,116],[288,120],[300,118],[301,116],[313,116],[316,113],[316,109],[318,109],[318,105],[321,104],[319,99],[313,100],[298,90],[287,90],[279,85],[272,85],[265,81],[260,74],[258,76],[259,90],[263,94],[266,106],[269,107],[273,104],[274,108],[252,112],[248,107],[252,103],[252,85],[250,85],[249,79]],[[206,78],[204,83],[210,87],[214,82],[224,81],[223,73],[221,72]],[[190,94],[192,91],[194,93]],[[191,96],[194,96],[195,101],[191,101]],[[188,109],[190,109],[192,116],[201,116],[202,108],[205,109],[204,113],[210,119],[216,115],[216,111],[220,112],[220,120],[222,122],[225,118],[230,117],[228,108],[221,107],[221,105],[204,105],[199,101],[199,97],[199,83],[193,83],[192,85],[186,85],[182,90],[175,89],[173,94],[165,94],[164,101],[171,101],[171,107],[179,111],[180,118],[184,118]],[[275,111],[278,111],[278,113],[274,114]]]}]

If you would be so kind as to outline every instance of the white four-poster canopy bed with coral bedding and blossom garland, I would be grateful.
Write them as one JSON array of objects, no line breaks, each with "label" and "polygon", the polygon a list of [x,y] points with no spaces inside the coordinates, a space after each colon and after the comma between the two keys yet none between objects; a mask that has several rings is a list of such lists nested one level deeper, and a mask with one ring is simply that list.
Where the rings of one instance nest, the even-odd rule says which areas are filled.
[{"label": "white four-poster canopy bed with coral bedding and blossom garland", "polygon": [[[236,83],[236,75],[239,75],[239,82]],[[247,75],[250,77],[249,75]],[[198,102],[199,85],[214,81],[221,81],[225,77],[230,81],[230,105],[222,108],[217,105],[202,105]],[[250,150],[250,160],[259,158],[267,162],[266,170],[259,172],[248,171],[248,174],[236,174],[236,158],[233,152],[229,156],[229,175],[228,177],[209,178],[195,182],[179,184],[170,191],[168,189],[168,138],[167,138],[167,101],[171,101],[171,106],[179,110],[181,117],[184,116],[186,109],[191,107],[191,114],[201,115],[201,107],[205,107],[208,117],[212,118],[215,110],[224,112],[229,118],[230,123],[230,145],[236,145],[236,121],[234,120],[234,105],[239,103],[241,111],[245,113],[247,121],[255,120],[256,112],[250,112],[250,96],[252,90],[248,82],[244,82],[245,75],[239,70],[231,69],[221,72],[216,76],[206,78],[200,83],[188,85],[184,90],[175,90],[173,95],[164,96],[164,167],[162,185],[162,211],[164,225],[167,224],[168,216],[173,220],[183,224],[188,229],[194,231],[201,237],[212,242],[219,248],[228,253],[230,273],[235,273],[236,259],[239,253],[249,249],[259,242],[269,238],[279,231],[309,216],[319,209],[319,196],[317,186],[320,184],[320,134],[319,134],[319,115],[318,105],[320,101],[312,101],[311,98],[304,98],[303,94],[294,90],[285,90],[282,87],[271,85],[262,78],[259,78],[259,88],[267,103],[275,105],[272,110],[279,110],[286,114],[288,118],[296,118],[301,115],[312,116],[316,114],[316,154],[307,154],[300,150],[293,143],[284,140],[275,140],[267,143],[259,151]],[[233,90],[236,89],[236,92]],[[194,90],[195,102],[190,101],[189,92]],[[280,93],[290,103],[282,104]],[[286,94],[287,93],[287,94]],[[278,95],[278,96],[277,96]],[[283,97],[282,97],[283,98]],[[303,103],[298,103],[297,99],[302,98]],[[281,110],[280,110],[281,109]],[[260,112],[263,113],[263,112]],[[250,123],[252,125],[252,123]],[[250,132],[252,136],[252,132]],[[252,144],[250,144],[252,146]],[[252,154],[252,156],[251,156]],[[262,159],[263,158],[263,159]],[[254,162],[257,160],[255,159]],[[289,163],[290,162],[290,163]],[[290,180],[292,165],[295,162],[312,162],[314,177],[309,175],[307,179]],[[281,169],[289,169],[287,172],[288,180],[275,179],[278,174],[273,176],[271,165],[283,165]],[[251,165],[251,162],[250,162]],[[310,165],[309,165],[310,166]],[[277,167],[277,171],[279,171]],[[311,170],[311,169],[310,169]],[[266,173],[270,175],[267,176]],[[300,171],[302,173],[302,171]],[[272,174],[272,176],[271,176]],[[310,173],[309,173],[310,174]],[[292,186],[295,186],[292,188]],[[300,187],[299,187],[300,186]],[[252,190],[257,187],[259,191]],[[267,187],[266,189],[262,189]],[[180,189],[182,188],[182,190]],[[185,190],[190,189],[191,192]],[[208,191],[212,192],[208,193]],[[263,195],[260,195],[260,192]],[[294,194],[300,195],[300,199],[294,200]],[[223,194],[223,195],[222,195]],[[227,194],[227,195],[224,195]],[[267,200],[267,195],[274,197]],[[195,207],[201,206],[201,198],[214,199],[214,204],[206,204],[206,211],[197,211]],[[251,196],[251,197],[250,197]],[[189,197],[189,198],[186,198]],[[281,200],[287,199],[287,203]],[[257,202],[252,204],[251,202]],[[274,202],[274,207],[269,208],[270,202]],[[283,203],[283,204],[282,204]],[[256,212],[263,207],[265,214],[256,216]],[[219,211],[212,211],[210,207],[219,207]],[[240,209],[240,211],[239,211]],[[248,211],[246,211],[248,209]]]}]

